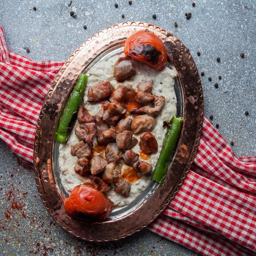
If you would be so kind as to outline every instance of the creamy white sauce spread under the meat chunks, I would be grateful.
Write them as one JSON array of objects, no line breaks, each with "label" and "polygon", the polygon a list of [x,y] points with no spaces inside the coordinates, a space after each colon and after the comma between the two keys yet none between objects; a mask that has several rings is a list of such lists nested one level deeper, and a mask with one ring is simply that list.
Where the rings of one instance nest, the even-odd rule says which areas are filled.
[{"label": "creamy white sauce spread under the meat chunks", "polygon": [[[164,70],[159,71],[155,70],[152,67],[149,67],[148,65],[144,65],[142,63],[139,63],[137,61],[134,62],[136,74],[132,75],[128,80],[125,80],[124,82],[120,83],[117,82],[113,76],[113,70],[114,65],[117,59],[121,56],[124,56],[124,53],[115,54],[112,56],[109,56],[107,54],[103,58],[101,58],[97,63],[95,63],[88,72],[88,83],[85,89],[85,94],[83,97],[83,102],[81,103],[81,106],[85,106],[90,115],[95,116],[99,109],[101,108],[101,104],[99,103],[88,103],[87,102],[87,95],[88,95],[88,89],[101,82],[101,81],[110,81],[110,85],[112,88],[117,88],[119,84],[123,85],[131,85],[132,88],[137,90],[137,85],[140,82],[145,82],[153,79],[153,89],[152,94],[156,96],[164,96],[165,97],[165,104],[162,108],[162,111],[157,115],[156,117],[156,125],[153,128],[152,131],[150,131],[155,138],[157,139],[158,143],[158,152],[153,153],[150,155],[149,159],[142,159],[139,157],[139,160],[148,162],[154,166],[157,162],[157,157],[162,149],[162,141],[164,139],[164,135],[166,132],[166,128],[163,128],[163,122],[165,120],[170,119],[172,115],[175,115],[176,113],[176,95],[174,92],[174,82],[175,77],[177,76],[176,72],[174,70],[169,69],[168,67],[165,67]],[[76,124],[75,124],[76,125]],[[135,138],[139,140],[139,137],[143,135],[133,135]],[[95,138],[94,138],[95,139]],[[83,177],[79,174],[76,174],[74,171],[74,166],[77,162],[77,157],[72,156],[70,154],[71,146],[73,146],[76,142],[78,142],[79,139],[76,137],[74,133],[74,128],[70,134],[69,139],[65,144],[60,144],[59,146],[59,166],[61,169],[61,182],[67,191],[67,193],[71,193],[72,189],[83,183],[87,182],[88,178]],[[132,150],[136,153],[140,152],[139,144],[137,144]],[[100,152],[99,152],[100,154]],[[127,170],[127,168],[131,168],[130,166],[126,166],[125,164],[122,166],[122,172]],[[130,204],[139,193],[144,191],[146,187],[148,186],[148,183],[150,182],[151,177],[145,177],[142,175],[137,175],[137,179],[135,179],[132,182],[130,193],[127,197],[116,193],[114,191],[114,187],[106,193],[106,196],[114,202],[115,207],[124,207],[128,204]],[[131,180],[130,180],[131,181]]]}]

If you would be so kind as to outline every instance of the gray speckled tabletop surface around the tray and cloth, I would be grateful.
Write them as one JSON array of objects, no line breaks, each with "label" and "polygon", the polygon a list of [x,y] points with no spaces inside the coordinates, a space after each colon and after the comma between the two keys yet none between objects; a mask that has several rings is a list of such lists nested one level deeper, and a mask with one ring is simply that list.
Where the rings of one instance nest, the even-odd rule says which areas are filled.
[{"label": "gray speckled tabletop surface around the tray and cloth", "polygon": [[[69,0],[1,0],[0,25],[9,50],[33,61],[64,62],[87,38],[123,21],[150,22],[170,31],[190,49],[199,73],[204,72],[204,114],[213,115],[220,134],[234,141],[238,157],[256,155],[255,1],[198,0],[195,7],[192,2],[133,0],[129,5],[128,0],[73,0],[69,7]],[[192,13],[189,20],[186,12]],[[118,242],[77,240],[49,216],[32,169],[20,164],[2,141],[0,150],[0,254],[196,255],[146,229]]]}]

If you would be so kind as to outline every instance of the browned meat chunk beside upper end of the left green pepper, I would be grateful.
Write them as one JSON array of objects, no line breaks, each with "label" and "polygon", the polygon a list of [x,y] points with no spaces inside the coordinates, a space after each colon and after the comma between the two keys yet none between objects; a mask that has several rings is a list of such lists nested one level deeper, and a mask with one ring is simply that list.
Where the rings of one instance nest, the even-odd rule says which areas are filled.
[{"label": "browned meat chunk beside upper end of the left green pepper", "polygon": [[104,99],[112,92],[109,81],[100,82],[88,89],[88,102],[96,102]]}]

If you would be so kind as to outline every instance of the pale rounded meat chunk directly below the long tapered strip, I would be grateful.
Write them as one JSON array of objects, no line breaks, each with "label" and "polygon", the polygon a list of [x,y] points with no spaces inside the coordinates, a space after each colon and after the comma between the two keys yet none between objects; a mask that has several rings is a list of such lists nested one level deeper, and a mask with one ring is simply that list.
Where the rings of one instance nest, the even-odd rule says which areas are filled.
[{"label": "pale rounded meat chunk directly below the long tapered strip", "polygon": [[145,131],[148,132],[152,130],[155,127],[155,118],[150,117],[147,114],[144,115],[136,115],[132,119],[132,124],[131,124],[131,130],[135,134]]}]

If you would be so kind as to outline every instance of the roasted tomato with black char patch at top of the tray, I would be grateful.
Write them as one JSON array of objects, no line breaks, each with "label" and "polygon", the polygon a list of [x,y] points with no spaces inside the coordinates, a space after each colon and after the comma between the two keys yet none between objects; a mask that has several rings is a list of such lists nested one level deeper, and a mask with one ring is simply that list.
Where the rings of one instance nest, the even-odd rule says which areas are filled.
[{"label": "roasted tomato with black char patch at top of the tray", "polygon": [[167,52],[162,40],[152,31],[139,30],[129,36],[124,44],[124,54],[162,70],[167,63]]}]

